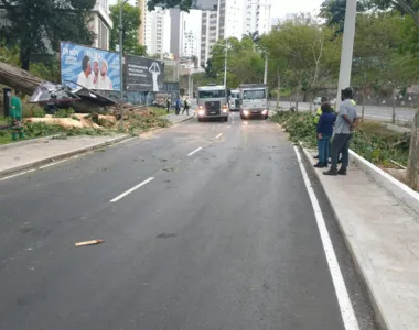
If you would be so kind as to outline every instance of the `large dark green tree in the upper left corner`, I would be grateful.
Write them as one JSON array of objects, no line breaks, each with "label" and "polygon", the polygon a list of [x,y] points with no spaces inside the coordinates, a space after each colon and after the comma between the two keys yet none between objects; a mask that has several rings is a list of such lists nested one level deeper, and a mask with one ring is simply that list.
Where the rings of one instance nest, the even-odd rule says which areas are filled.
[{"label": "large dark green tree in the upper left corner", "polygon": [[36,55],[47,53],[51,46],[58,51],[60,41],[92,44],[94,33],[88,30],[95,0],[55,1],[0,0],[10,25],[1,29],[8,44],[18,44],[20,64],[29,70]]}]

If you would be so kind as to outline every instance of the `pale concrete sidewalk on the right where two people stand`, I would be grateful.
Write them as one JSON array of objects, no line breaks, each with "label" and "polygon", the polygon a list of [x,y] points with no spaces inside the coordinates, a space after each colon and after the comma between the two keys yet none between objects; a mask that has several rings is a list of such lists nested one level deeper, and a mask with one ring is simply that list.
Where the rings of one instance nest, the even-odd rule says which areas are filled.
[{"label": "pale concrete sidewalk on the right where two people stand", "polygon": [[[303,150],[310,165],[314,153]],[[365,279],[380,327],[418,329],[418,215],[354,165],[347,176],[324,176],[323,170],[311,168]]]}]

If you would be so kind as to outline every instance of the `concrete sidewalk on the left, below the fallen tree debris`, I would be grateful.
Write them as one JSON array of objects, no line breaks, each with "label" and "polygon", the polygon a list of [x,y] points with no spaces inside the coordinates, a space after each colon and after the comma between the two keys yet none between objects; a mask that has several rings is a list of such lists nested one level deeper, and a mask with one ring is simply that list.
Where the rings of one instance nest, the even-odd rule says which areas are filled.
[{"label": "concrete sidewalk on the left, below the fallen tree debris", "polygon": [[[169,114],[172,124],[178,124],[193,118],[193,112],[186,114]],[[129,134],[105,136],[73,136],[65,140],[47,136],[33,139],[0,146],[0,177],[51,162],[71,157],[76,154],[97,150],[130,138]]]}]

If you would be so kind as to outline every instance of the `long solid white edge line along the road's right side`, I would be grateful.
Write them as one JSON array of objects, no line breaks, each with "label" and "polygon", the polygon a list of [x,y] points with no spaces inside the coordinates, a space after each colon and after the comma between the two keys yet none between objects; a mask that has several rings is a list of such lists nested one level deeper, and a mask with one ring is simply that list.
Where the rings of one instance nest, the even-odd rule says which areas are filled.
[{"label": "long solid white edge line along the road's right side", "polygon": [[342,276],[341,268],[337,263],[337,257],[333,249],[333,244],[331,238],[327,232],[326,224],[324,222],[323,213],[320,208],[318,198],[315,197],[314,190],[310,183],[309,176],[307,175],[304,164],[301,161],[301,155],[297,146],[294,146],[294,151],[297,154],[297,160],[300,165],[300,170],[302,173],[302,177],[304,179],[307,191],[309,193],[311,205],[313,207],[315,220],[318,222],[318,228],[320,232],[320,238],[322,240],[324,254],[327,260],[329,270],[332,275],[333,286],[336,293],[339,307],[341,309],[341,315],[343,319],[343,323],[345,326],[345,330],[359,330],[358,322],[355,317],[354,309],[351,304],[350,295],[346,289],[345,282]]}]

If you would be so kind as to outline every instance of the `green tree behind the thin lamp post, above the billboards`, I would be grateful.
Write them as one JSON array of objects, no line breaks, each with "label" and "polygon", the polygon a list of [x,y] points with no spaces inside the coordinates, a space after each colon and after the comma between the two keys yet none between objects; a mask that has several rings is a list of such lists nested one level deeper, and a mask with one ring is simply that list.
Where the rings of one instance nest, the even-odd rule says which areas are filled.
[{"label": "green tree behind the thin lamp post, above the billboards", "polygon": [[[116,51],[119,45],[119,10],[121,1],[110,6],[110,16],[114,28],[110,31],[110,48]],[[141,25],[141,11],[137,6],[126,3],[122,9],[123,51],[129,54],[146,56],[147,48],[138,43],[138,29]]]}]

